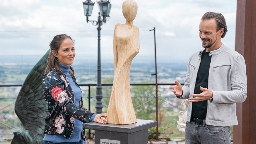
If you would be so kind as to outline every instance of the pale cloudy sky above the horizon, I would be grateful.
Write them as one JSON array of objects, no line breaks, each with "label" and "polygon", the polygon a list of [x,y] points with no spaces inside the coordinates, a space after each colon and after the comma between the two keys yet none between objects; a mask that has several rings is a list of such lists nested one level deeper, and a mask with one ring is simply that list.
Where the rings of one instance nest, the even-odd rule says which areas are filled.
[{"label": "pale cloudy sky above the horizon", "polygon": [[[89,20],[97,20],[96,0]],[[125,23],[124,0],[110,0],[109,20],[101,26],[101,55],[113,57],[113,29]],[[235,49],[237,0],[135,0],[138,12],[133,24],[140,29],[140,52],[136,57],[154,58],[156,29],[157,58],[185,60],[202,49],[198,36],[201,16],[207,11],[220,12],[228,33],[222,42]],[[97,56],[97,26],[86,23],[82,0],[0,0],[1,55],[44,55],[49,42],[65,33],[75,40],[76,57]]]}]

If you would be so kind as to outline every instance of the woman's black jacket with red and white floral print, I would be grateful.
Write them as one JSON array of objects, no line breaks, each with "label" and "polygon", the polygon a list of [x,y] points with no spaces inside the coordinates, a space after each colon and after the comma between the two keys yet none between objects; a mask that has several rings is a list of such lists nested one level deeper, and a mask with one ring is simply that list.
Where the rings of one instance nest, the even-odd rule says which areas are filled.
[{"label": "woman's black jacket with red and white floral print", "polygon": [[[75,76],[72,79],[76,82]],[[60,134],[70,138],[74,127],[74,118],[88,123],[94,114],[83,108],[82,99],[79,106],[74,104],[74,94],[68,78],[54,70],[48,71],[43,77],[43,96],[50,112],[45,119],[44,134]],[[82,138],[85,138],[84,131],[83,126]]]}]

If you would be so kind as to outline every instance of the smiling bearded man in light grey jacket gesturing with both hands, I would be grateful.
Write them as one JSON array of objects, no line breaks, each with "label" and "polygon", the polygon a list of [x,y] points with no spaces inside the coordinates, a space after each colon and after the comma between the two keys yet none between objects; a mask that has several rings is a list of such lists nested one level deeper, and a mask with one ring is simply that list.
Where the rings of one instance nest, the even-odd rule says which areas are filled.
[{"label": "smiling bearded man in light grey jacket gesturing with both hands", "polygon": [[237,125],[236,103],[247,97],[244,58],[221,38],[227,26],[221,13],[205,13],[199,25],[203,50],[188,62],[184,86],[170,86],[179,99],[188,99],[185,144],[231,144],[230,126]]}]

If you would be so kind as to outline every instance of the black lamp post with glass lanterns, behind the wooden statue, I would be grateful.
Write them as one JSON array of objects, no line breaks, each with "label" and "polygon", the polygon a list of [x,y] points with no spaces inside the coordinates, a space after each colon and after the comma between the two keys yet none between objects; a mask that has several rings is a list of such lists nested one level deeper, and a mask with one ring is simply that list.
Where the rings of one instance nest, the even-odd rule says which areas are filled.
[{"label": "black lamp post with glass lanterns, behind the wooden statue", "polygon": [[[99,0],[97,1],[98,6],[99,6],[99,16],[98,16],[98,21],[94,20],[89,20],[89,16],[92,14],[92,9],[94,3],[91,0],[86,0],[83,2],[84,6],[84,15],[86,16],[86,21],[90,21],[93,25],[98,26],[98,64],[97,64],[97,86],[96,86],[96,113],[100,114],[102,113],[102,86],[101,86],[101,60],[100,60],[100,30],[101,30],[101,25],[106,23],[107,17],[109,17],[110,9],[111,9],[111,4],[109,0]],[[101,18],[102,16],[102,18]]]}]

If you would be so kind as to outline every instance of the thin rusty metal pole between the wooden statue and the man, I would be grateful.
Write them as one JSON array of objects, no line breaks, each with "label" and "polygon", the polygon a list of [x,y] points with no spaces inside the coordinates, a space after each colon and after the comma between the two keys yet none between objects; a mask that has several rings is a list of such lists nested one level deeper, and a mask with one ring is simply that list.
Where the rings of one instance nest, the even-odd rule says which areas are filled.
[{"label": "thin rusty metal pole between the wooden statue and the man", "polygon": [[[156,64],[156,29],[154,27],[154,43],[155,43],[155,77],[156,77],[156,140],[158,140],[158,86],[157,86],[157,64]],[[150,30],[150,31],[152,31]]]}]

